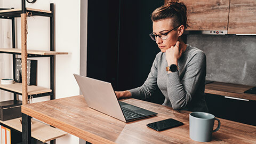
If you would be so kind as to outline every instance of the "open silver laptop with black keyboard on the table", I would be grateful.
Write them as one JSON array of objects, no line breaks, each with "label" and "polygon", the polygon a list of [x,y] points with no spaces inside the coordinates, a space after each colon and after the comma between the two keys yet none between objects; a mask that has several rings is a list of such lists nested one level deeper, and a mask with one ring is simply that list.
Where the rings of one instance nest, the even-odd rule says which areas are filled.
[{"label": "open silver laptop with black keyboard on the table", "polygon": [[131,122],[137,119],[157,115],[140,107],[118,101],[111,83],[74,74],[87,105],[123,122]]}]

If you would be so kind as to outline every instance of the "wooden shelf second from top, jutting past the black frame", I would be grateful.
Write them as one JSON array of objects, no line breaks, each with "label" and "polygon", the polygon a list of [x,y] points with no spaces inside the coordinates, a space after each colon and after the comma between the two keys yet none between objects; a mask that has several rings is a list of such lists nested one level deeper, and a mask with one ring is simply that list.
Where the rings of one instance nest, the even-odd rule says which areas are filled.
[{"label": "wooden shelf second from top, jutting past the black frame", "polygon": [[[36,51],[36,50],[27,50],[27,51],[28,51],[28,54],[35,54],[35,55],[68,54],[68,52],[55,52],[55,51]],[[2,53],[21,54],[21,49],[0,48],[0,52],[2,52]]]}]

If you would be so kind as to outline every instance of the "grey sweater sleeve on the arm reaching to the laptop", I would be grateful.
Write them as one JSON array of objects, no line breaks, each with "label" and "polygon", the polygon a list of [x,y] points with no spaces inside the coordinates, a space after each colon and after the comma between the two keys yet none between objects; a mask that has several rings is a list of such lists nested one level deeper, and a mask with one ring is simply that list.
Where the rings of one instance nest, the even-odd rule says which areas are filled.
[{"label": "grey sweater sleeve on the arm reaching to the laptop", "polygon": [[146,99],[150,97],[157,87],[157,57],[155,58],[151,67],[148,78],[144,84],[135,89],[129,90],[132,93],[132,98]]}]

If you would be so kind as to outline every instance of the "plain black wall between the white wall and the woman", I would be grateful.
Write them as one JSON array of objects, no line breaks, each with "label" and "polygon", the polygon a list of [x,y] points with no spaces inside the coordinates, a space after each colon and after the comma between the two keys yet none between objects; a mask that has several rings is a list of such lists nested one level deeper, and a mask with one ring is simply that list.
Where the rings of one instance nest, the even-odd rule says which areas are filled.
[{"label": "plain black wall between the white wall and the woman", "polygon": [[[116,91],[141,86],[160,51],[151,40],[151,13],[164,1],[88,1],[87,76]],[[163,103],[157,90],[147,99]]]}]

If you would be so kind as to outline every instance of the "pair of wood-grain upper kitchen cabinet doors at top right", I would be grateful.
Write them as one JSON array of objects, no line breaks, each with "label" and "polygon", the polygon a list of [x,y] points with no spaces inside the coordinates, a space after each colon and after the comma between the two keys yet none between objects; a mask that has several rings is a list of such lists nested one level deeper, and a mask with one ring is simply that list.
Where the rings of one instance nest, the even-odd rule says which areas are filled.
[{"label": "pair of wood-grain upper kitchen cabinet doors at top right", "polygon": [[[167,2],[167,0],[165,1]],[[189,1],[187,30],[228,30],[227,34],[256,34],[256,1]]]}]

